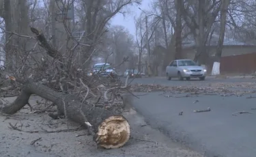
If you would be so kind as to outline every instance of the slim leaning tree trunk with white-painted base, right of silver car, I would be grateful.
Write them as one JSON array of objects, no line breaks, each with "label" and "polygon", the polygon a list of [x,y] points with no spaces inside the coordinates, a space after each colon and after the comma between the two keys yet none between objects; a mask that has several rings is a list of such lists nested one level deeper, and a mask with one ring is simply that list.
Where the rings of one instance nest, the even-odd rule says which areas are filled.
[{"label": "slim leaning tree trunk with white-painted base, right of silver car", "polygon": [[225,28],[226,28],[226,17],[227,17],[227,8],[229,7],[230,0],[221,1],[221,31],[220,36],[218,38],[218,46],[216,49],[216,61],[214,61],[214,65],[212,66],[212,75],[220,74],[221,68],[221,54],[223,50],[223,41],[225,36]]}]

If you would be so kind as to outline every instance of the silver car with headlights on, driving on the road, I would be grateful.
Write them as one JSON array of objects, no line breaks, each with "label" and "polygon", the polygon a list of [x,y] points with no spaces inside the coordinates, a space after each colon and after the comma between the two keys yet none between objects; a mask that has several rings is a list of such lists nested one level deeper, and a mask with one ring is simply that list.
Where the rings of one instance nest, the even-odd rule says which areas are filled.
[{"label": "silver car with headlights on, driving on the road", "polygon": [[205,80],[207,71],[202,66],[197,66],[195,61],[190,59],[179,59],[171,61],[166,68],[167,80],[171,80],[172,77],[177,77],[179,80],[190,80],[190,78],[199,78]]}]

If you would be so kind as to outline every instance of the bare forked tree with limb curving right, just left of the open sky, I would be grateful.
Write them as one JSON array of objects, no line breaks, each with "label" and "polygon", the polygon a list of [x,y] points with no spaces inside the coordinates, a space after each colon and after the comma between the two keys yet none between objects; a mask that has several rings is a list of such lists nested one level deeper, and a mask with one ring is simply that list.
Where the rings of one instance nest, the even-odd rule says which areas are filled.
[{"label": "bare forked tree with limb curving right, just left of the open sky", "polygon": [[[84,10],[85,19],[83,20],[83,28],[85,28],[85,42],[90,46],[84,50],[85,54],[81,55],[82,62],[87,60],[94,51],[94,44],[100,42],[100,37],[106,33],[106,24],[115,14],[122,12],[122,9],[128,5],[139,4],[141,0],[117,0],[117,1],[101,1],[101,0],[80,0],[79,4]],[[82,63],[83,65],[83,63]],[[84,65],[85,66],[85,65]]]}]

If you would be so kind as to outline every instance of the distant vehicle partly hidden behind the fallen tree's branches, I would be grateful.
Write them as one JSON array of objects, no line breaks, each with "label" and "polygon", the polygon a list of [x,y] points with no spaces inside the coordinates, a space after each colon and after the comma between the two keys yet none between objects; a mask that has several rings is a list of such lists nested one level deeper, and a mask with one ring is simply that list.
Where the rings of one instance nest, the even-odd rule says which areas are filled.
[{"label": "distant vehicle partly hidden behind the fallen tree's branches", "polygon": [[92,72],[87,74],[88,76],[92,76],[93,74],[100,74],[100,76],[112,76],[116,77],[117,73],[114,68],[111,68],[109,63],[96,63],[93,66]]}]

